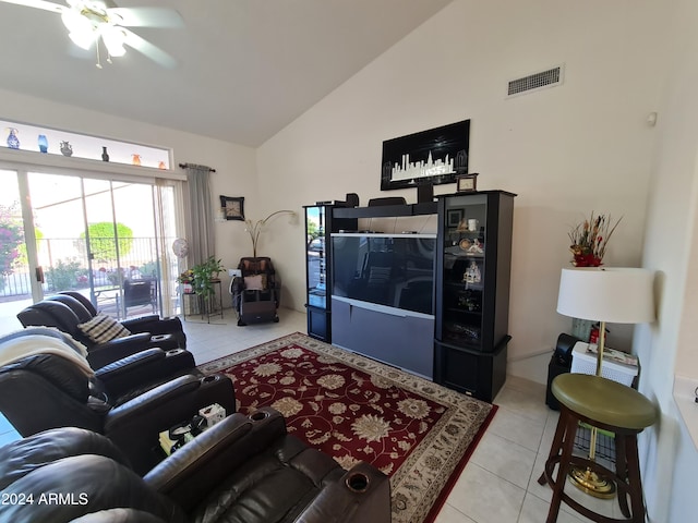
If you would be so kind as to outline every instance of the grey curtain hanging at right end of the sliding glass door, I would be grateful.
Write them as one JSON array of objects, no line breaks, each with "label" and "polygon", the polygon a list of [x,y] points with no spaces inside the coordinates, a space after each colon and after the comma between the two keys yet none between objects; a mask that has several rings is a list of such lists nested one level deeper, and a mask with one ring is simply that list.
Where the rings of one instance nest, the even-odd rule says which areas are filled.
[{"label": "grey curtain hanging at right end of the sliding glass door", "polygon": [[189,242],[189,267],[201,264],[215,255],[213,206],[207,166],[186,165],[186,241]]}]

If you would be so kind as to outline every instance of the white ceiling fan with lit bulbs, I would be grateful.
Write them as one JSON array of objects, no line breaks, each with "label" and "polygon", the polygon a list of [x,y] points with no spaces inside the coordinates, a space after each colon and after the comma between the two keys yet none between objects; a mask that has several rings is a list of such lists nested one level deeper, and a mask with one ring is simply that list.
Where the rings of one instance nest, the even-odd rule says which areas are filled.
[{"label": "white ceiling fan with lit bulbs", "polygon": [[164,68],[174,68],[177,61],[159,47],[127,27],[183,27],[180,14],[168,8],[119,8],[112,0],[65,0],[68,5],[45,0],[0,0],[36,8],[61,15],[73,42],[85,50],[95,44],[97,68],[101,69],[99,44],[107,50],[107,62],[125,54],[125,46],[142,52]]}]

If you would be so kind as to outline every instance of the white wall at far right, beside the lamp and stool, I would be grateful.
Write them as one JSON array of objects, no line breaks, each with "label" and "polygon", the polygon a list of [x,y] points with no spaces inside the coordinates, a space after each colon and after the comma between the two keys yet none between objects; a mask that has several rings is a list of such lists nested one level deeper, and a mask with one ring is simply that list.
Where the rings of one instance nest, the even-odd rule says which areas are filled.
[{"label": "white wall at far right, beside the lamp and stool", "polygon": [[672,398],[674,373],[698,378],[698,4],[672,2],[665,90],[648,208],[643,265],[658,273],[658,320],[637,329],[640,391],[661,410],[640,440],[643,487],[653,522],[694,521],[698,452]]}]

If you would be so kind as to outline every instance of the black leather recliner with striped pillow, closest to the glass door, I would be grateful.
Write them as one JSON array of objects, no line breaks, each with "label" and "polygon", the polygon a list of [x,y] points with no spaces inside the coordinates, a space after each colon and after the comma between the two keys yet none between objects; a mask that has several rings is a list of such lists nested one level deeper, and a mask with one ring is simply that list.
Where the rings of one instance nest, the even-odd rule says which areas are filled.
[{"label": "black leather recliner with striped pillow, closest to the glass door", "polygon": [[[93,368],[103,367],[145,349],[159,348],[169,350],[180,348],[180,341],[178,340],[181,337],[179,335],[140,330],[154,328],[156,323],[152,320],[144,320],[143,323],[136,323],[137,320],[134,323],[122,321],[121,325],[132,335],[97,343],[79,327],[81,324],[93,319],[94,316],[75,297],[64,294],[57,294],[29,305],[17,314],[17,318],[24,327],[56,327],[70,335],[87,348],[87,360]],[[179,321],[179,318],[177,319]],[[181,329],[181,324],[179,324],[179,328]]]}]

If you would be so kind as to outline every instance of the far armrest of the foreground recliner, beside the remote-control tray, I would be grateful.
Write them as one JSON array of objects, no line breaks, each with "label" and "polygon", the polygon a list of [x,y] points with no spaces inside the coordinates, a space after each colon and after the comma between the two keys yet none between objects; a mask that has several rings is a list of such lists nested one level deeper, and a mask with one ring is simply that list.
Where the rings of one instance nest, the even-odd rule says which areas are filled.
[{"label": "far armrest of the foreground recliner, beside the remote-control tray", "polygon": [[231,414],[169,455],[144,479],[189,510],[215,489],[230,471],[286,434],[284,416],[270,408],[263,408],[250,416]]}]

